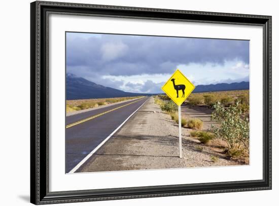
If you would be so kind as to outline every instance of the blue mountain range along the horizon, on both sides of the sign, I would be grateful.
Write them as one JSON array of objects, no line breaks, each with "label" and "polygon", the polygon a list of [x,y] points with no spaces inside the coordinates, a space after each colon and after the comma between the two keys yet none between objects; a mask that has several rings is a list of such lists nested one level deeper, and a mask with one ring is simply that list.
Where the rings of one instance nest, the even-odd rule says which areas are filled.
[{"label": "blue mountain range along the horizon, on both sides of the sign", "polygon": [[[240,83],[221,83],[216,85],[198,85],[193,93],[216,92],[229,90],[249,90],[249,81]],[[151,96],[154,94],[130,93],[117,90],[110,87],[97,85],[83,77],[74,74],[66,74],[66,99],[95,99],[95,98],[113,98],[113,97],[133,97],[133,96]]]}]

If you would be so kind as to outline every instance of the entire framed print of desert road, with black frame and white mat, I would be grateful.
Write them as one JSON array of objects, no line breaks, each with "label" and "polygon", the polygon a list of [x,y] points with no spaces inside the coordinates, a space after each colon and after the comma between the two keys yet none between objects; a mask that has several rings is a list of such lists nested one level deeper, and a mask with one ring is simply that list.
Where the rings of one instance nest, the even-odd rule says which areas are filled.
[{"label": "entire framed print of desert road, with black frame and white mat", "polygon": [[31,202],[271,189],[271,17],[33,2]]}]

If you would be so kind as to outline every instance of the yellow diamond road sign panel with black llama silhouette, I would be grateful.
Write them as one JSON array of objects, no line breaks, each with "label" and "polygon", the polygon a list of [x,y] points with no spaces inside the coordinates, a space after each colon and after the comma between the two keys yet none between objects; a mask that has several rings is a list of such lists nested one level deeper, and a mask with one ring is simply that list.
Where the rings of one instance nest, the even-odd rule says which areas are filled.
[{"label": "yellow diamond road sign panel with black llama silhouette", "polygon": [[162,90],[167,94],[167,96],[169,96],[170,99],[172,99],[172,101],[179,106],[186,100],[194,89],[195,86],[178,69],[162,87]]}]

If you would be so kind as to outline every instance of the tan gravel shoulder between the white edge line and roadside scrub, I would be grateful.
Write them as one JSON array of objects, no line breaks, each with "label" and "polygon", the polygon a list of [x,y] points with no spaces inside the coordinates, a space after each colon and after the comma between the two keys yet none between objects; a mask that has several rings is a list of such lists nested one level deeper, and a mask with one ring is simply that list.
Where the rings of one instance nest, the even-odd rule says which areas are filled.
[{"label": "tan gravel shoulder between the white edge line and roadside scrub", "polygon": [[[201,111],[199,111],[200,114]],[[214,145],[201,144],[182,128],[183,158],[179,158],[178,125],[151,97],[122,129],[77,172],[124,171],[240,164]],[[212,160],[215,157],[216,161]]]}]

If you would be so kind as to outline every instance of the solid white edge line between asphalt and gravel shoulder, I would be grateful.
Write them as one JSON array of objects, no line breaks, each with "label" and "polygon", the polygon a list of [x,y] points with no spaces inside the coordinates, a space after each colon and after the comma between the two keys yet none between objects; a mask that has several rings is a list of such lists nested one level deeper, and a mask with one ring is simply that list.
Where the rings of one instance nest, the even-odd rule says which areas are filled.
[{"label": "solid white edge line between asphalt and gravel shoulder", "polygon": [[[149,98],[148,98],[149,99]],[[147,100],[148,100],[147,99]],[[104,143],[106,143],[123,125],[128,119],[138,110],[140,109],[146,102],[147,100],[140,106],[138,107],[128,118],[126,118],[121,125],[118,126],[118,128],[115,129],[106,139],[104,139],[95,149],[93,149],[89,154],[87,154],[86,157],[84,157],[77,165],[75,168],[73,168],[71,171],[69,171],[67,174],[74,174],[81,166],[84,164],[84,162],[89,159]]]}]

